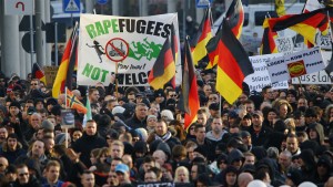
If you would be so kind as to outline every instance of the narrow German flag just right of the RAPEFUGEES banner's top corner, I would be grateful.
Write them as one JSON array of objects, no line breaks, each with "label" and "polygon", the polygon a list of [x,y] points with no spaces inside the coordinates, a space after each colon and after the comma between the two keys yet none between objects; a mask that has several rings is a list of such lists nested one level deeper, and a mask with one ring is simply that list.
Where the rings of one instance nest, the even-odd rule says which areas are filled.
[{"label": "narrow German flag just right of the RAPEFUGEES banner's top corner", "polygon": [[205,50],[206,43],[212,38],[212,15],[211,9],[205,10],[204,17],[200,23],[199,31],[194,39],[192,40],[192,51],[193,62],[198,65],[199,61],[202,60],[208,53]]}]

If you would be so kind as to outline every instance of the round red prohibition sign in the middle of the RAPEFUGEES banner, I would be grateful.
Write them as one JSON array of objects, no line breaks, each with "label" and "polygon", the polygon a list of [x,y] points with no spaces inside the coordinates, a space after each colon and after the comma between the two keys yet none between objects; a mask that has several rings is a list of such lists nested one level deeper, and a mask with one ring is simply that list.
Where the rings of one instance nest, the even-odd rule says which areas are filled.
[{"label": "round red prohibition sign in the middle of the RAPEFUGEES banner", "polygon": [[[118,41],[118,40],[125,44],[127,51],[123,51],[122,49],[119,49],[113,45],[112,42]],[[108,45],[111,46],[112,51],[108,51]],[[105,44],[105,54],[107,54],[108,59],[110,59],[113,62],[120,62],[120,61],[123,61],[124,59],[127,59],[129,55],[129,51],[130,51],[129,43],[121,38],[113,38],[113,39],[109,40],[109,42]],[[121,56],[121,58],[114,59],[114,56]]]}]

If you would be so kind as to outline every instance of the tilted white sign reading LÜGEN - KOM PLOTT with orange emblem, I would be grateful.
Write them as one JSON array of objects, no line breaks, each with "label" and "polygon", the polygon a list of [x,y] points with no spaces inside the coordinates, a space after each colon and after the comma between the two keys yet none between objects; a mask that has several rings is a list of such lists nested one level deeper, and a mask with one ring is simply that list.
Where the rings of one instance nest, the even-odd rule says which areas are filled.
[{"label": "tilted white sign reading L\u00dcGEN - KOM PLOTT with orange emblem", "polygon": [[287,54],[281,59],[272,59],[268,62],[272,82],[286,81],[291,77],[319,72],[324,67],[325,64],[319,46]]}]

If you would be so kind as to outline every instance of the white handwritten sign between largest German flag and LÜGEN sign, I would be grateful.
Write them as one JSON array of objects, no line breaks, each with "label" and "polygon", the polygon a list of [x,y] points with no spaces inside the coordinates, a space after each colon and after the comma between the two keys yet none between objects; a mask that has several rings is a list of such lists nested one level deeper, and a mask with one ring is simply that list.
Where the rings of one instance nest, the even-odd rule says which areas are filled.
[{"label": "white handwritten sign between largest German flag and L\u00dcGEN sign", "polygon": [[273,90],[287,89],[287,82],[278,82],[272,84],[271,77],[269,75],[266,62],[272,58],[282,56],[282,53],[266,54],[266,55],[255,55],[250,56],[250,61],[254,69],[254,73],[245,77],[244,82],[249,85],[250,92],[256,91],[261,92],[266,85],[272,85]]}]

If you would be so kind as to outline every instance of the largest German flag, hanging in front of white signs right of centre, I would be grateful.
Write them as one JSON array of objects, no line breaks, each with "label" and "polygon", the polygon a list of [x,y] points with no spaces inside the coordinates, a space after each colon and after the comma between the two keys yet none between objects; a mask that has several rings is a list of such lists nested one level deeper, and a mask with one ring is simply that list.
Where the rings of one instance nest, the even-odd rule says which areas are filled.
[{"label": "largest German flag, hanging in front of white signs right of centre", "polygon": [[248,53],[234,37],[228,21],[224,19],[218,44],[216,91],[230,103],[234,103],[242,94],[244,77],[254,73]]}]

